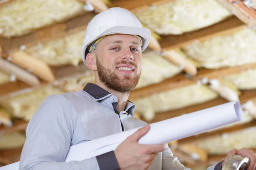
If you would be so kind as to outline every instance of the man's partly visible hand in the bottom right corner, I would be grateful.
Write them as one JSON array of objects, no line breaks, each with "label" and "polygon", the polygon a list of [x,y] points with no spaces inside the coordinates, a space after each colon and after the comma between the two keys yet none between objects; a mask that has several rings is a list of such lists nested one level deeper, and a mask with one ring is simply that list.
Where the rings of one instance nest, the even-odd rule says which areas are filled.
[{"label": "man's partly visible hand in the bottom right corner", "polygon": [[239,151],[236,150],[236,149],[231,150],[229,153],[227,153],[227,157],[225,158],[225,160],[224,160],[222,165],[224,165],[224,163],[228,160],[228,158],[231,155],[234,155],[234,154],[249,158],[250,159],[250,165],[249,165],[247,170],[255,170],[255,167],[256,167],[256,155],[255,155],[253,150],[249,150],[247,148],[243,148],[243,149],[241,149]]}]

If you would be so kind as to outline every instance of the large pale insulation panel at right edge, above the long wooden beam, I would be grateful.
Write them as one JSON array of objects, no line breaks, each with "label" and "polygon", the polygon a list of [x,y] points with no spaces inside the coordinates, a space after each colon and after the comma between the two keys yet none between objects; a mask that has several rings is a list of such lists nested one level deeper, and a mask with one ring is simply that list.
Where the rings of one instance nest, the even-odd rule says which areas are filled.
[{"label": "large pale insulation panel at right edge, above the long wooden beam", "polygon": [[242,28],[233,34],[192,43],[183,51],[203,67],[218,69],[255,63],[255,48],[256,33],[250,28]]}]

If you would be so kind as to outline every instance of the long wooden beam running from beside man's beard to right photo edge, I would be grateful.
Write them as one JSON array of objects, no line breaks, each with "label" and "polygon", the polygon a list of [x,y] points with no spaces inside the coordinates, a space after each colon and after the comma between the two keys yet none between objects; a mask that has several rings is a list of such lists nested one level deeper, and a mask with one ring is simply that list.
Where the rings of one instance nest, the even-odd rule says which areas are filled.
[{"label": "long wooden beam running from beside man's beard to right photo edge", "polygon": [[185,74],[179,74],[176,77],[166,79],[163,82],[158,84],[149,85],[144,88],[134,89],[131,91],[129,95],[129,100],[136,100],[146,96],[150,96],[152,94],[160,93],[163,91],[168,91],[174,88],[179,88],[187,85],[193,85],[197,83],[198,80],[203,78],[207,79],[219,79],[226,77],[230,74],[239,74],[242,71],[246,71],[249,69],[256,69],[256,64],[242,65],[239,67],[233,68],[222,68],[222,69],[201,69],[198,71],[197,76],[192,77],[190,79],[186,79]]}]

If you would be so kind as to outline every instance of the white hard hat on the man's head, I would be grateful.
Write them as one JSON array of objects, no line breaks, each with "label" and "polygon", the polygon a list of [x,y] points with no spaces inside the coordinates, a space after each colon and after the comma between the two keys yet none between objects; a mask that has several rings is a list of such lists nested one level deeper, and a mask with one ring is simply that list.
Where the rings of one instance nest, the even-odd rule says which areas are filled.
[{"label": "white hard hat on the man's head", "polygon": [[142,51],[148,47],[151,32],[147,28],[143,28],[140,20],[130,11],[124,8],[109,8],[97,14],[87,26],[84,43],[81,48],[82,59],[85,62],[85,51],[87,47],[106,35],[111,34],[130,34],[141,37],[143,42]]}]

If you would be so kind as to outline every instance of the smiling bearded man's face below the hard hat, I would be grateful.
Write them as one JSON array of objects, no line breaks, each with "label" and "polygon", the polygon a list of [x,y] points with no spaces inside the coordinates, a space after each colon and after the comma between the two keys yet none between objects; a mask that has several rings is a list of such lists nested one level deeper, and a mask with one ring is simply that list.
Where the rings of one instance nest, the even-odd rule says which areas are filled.
[{"label": "smiling bearded man's face below the hard hat", "polygon": [[113,35],[96,45],[97,76],[108,88],[129,93],[140,79],[142,52],[140,38]]}]

